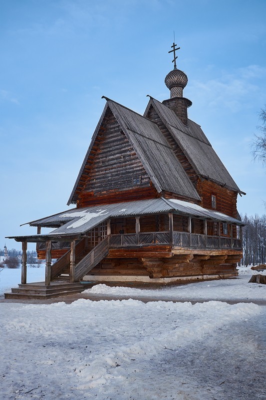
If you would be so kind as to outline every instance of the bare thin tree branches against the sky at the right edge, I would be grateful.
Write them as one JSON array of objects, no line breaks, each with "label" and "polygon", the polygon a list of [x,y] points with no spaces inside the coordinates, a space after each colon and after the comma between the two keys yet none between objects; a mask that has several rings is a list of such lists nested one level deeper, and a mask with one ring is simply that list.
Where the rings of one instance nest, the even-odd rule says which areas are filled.
[{"label": "bare thin tree branches against the sky at the right edge", "polygon": [[259,113],[261,125],[257,126],[257,129],[261,134],[255,134],[255,139],[251,144],[253,158],[258,159],[266,166],[266,105],[261,109]]}]

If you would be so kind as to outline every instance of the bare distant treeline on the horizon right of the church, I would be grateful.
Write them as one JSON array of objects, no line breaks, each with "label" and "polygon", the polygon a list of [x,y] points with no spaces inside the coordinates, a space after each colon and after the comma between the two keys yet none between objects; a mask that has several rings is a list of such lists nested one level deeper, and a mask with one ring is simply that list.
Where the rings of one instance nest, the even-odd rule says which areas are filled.
[{"label": "bare distant treeline on the horizon right of the church", "polygon": [[243,217],[243,265],[266,263],[266,215]]}]

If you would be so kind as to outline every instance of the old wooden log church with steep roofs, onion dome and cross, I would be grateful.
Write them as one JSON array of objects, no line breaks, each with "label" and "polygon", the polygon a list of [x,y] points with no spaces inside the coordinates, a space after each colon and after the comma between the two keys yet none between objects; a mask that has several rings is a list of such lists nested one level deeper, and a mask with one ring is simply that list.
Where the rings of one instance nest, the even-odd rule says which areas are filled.
[{"label": "old wooden log church with steep roofs, onion dome and cross", "polygon": [[[46,298],[81,291],[80,282],[173,282],[238,274],[241,192],[200,125],[188,118],[187,75],[165,78],[170,98],[150,97],[143,115],[107,97],[69,204],[29,222],[19,288]],[[41,227],[49,227],[42,234]],[[45,281],[26,283],[27,242],[46,259]],[[51,259],[56,259],[51,263]]]}]

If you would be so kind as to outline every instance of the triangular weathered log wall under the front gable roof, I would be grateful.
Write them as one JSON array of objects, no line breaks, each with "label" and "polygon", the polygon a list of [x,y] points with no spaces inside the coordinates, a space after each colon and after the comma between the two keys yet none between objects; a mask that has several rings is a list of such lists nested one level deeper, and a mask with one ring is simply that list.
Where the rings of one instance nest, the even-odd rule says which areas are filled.
[{"label": "triangular weathered log wall under the front gable roof", "polygon": [[102,121],[80,181],[79,207],[102,203],[103,199],[107,203],[155,195],[151,179],[110,109]]}]

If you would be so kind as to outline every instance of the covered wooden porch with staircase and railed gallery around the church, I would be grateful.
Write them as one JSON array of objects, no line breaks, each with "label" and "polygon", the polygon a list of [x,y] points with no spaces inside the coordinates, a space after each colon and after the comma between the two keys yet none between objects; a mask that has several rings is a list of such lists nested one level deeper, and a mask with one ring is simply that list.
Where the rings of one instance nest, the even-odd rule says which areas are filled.
[{"label": "covered wooden porch with staircase and railed gallery around the church", "polygon": [[[36,235],[13,237],[22,243],[21,285],[28,284],[28,242],[35,242],[38,256],[45,257],[43,284],[47,290],[55,282],[69,284],[70,289],[71,284],[79,283],[89,273],[93,274],[93,268],[99,271],[102,262],[108,259],[120,262],[134,258],[135,263],[141,265],[142,273],[150,278],[178,276],[179,265],[189,271],[190,266],[194,267],[199,260],[204,261],[204,265],[219,265],[235,264],[241,259],[242,221],[199,206],[195,210],[195,204],[190,203],[186,203],[189,204],[186,209],[183,204],[182,209],[176,209],[167,201],[163,204],[166,209],[162,209],[162,200],[155,200],[157,209],[154,202],[147,204],[147,200],[142,200],[138,203],[144,203],[145,207],[138,204],[136,209],[136,204],[133,204],[133,210],[121,208],[121,204],[115,204],[116,208],[109,205],[109,209],[106,205],[106,209],[98,209],[97,213],[87,208],[71,210],[61,213],[67,222],[60,222],[60,226],[60,214],[59,217],[58,214],[47,217],[45,221],[33,221],[37,226]],[[124,215],[120,215],[121,212]],[[47,223],[58,227],[41,234],[41,226]],[[58,249],[62,252],[59,252],[60,256]],[[52,263],[54,258],[56,261]],[[120,275],[124,273],[122,261]],[[159,268],[158,263],[164,268]]]}]

